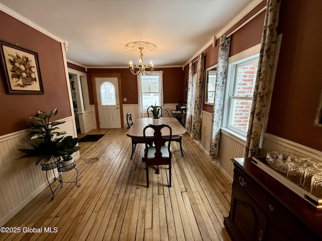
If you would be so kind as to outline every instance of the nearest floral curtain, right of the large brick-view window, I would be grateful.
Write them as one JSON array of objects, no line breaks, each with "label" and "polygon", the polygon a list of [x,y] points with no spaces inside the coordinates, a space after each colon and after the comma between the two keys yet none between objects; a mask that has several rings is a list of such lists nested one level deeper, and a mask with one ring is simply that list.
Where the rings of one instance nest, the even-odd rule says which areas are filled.
[{"label": "nearest floral curtain, right of the large brick-view window", "polygon": [[260,58],[248,124],[245,157],[258,156],[260,148],[267,92],[269,90],[275,54],[280,5],[281,0],[267,0]]}]

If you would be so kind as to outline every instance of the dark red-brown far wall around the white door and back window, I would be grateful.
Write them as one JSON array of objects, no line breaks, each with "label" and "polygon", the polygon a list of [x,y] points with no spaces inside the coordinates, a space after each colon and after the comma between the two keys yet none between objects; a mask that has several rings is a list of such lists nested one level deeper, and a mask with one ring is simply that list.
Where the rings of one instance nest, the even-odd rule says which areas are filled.
[{"label": "dark red-brown far wall around the white door and back window", "polygon": [[[163,71],[164,103],[178,103],[184,99],[185,80],[182,68],[155,68]],[[123,104],[137,104],[137,81],[128,68],[87,69],[90,103],[94,104],[92,73],[119,73],[121,74],[122,97],[127,98]]]}]

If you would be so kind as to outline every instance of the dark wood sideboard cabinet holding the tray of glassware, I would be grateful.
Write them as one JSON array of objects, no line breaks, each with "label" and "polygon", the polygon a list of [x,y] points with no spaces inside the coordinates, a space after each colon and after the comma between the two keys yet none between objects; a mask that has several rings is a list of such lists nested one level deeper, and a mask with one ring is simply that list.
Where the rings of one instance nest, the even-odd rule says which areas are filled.
[{"label": "dark wood sideboard cabinet holding the tray of glassware", "polygon": [[232,240],[322,240],[322,210],[252,163],[234,163],[231,206],[224,225]]}]

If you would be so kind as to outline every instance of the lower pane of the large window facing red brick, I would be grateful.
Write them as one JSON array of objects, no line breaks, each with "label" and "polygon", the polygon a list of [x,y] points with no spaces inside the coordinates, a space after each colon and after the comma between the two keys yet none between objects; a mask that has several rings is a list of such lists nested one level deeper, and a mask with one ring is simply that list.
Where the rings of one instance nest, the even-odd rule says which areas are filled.
[{"label": "lower pane of the large window facing red brick", "polygon": [[229,125],[247,132],[252,100],[231,99]]}]

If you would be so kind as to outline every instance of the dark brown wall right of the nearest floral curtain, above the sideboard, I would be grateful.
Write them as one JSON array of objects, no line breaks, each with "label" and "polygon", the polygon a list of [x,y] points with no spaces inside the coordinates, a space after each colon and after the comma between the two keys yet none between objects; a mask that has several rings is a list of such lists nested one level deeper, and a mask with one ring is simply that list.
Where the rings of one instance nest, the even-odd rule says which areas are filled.
[{"label": "dark brown wall right of the nearest floral curtain, above the sideboard", "polygon": [[267,132],[322,151],[314,117],[322,89],[322,1],[282,1],[283,34]]}]

